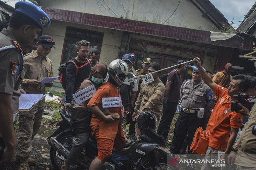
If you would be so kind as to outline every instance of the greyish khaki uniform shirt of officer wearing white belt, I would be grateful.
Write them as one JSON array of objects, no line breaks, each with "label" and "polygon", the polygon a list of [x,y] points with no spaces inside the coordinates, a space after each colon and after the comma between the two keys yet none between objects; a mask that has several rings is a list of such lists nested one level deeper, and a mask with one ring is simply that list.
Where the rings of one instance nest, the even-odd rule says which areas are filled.
[{"label": "greyish khaki uniform shirt of officer wearing white belt", "polygon": [[209,86],[203,80],[195,85],[192,79],[184,81],[181,85],[180,105],[188,109],[205,108],[208,92]]}]

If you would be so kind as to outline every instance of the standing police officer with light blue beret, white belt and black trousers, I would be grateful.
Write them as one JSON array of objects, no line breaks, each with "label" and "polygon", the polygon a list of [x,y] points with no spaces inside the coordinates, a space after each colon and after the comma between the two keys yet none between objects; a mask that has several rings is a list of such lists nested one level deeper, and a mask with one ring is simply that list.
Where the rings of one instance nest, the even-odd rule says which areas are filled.
[{"label": "standing police officer with light blue beret, white belt and black trousers", "polygon": [[[202,76],[196,66],[192,66],[192,79],[185,80],[181,85],[181,100],[178,104],[179,115],[175,124],[173,141],[171,142],[171,154],[179,154],[185,136],[188,133],[188,159],[193,159],[190,155],[190,146],[193,141],[195,131],[202,126],[204,108],[211,101],[214,101],[214,95],[209,86],[202,80]],[[187,169],[193,169],[193,164],[189,163]]]}]

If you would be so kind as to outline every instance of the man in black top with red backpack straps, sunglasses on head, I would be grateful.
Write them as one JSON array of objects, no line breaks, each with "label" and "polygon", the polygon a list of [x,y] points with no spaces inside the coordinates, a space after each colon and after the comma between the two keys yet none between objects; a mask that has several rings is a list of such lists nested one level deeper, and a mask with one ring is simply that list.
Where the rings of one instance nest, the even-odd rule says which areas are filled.
[{"label": "man in black top with red backpack straps, sunglasses on head", "polygon": [[86,40],[81,40],[78,43],[78,48],[76,49],[77,56],[67,62],[66,64],[66,77],[67,77],[67,87],[66,87],[66,104],[64,105],[64,110],[72,109],[74,104],[74,99],[72,95],[78,91],[83,80],[87,79],[91,72],[91,64],[88,59],[90,52],[90,43]]}]

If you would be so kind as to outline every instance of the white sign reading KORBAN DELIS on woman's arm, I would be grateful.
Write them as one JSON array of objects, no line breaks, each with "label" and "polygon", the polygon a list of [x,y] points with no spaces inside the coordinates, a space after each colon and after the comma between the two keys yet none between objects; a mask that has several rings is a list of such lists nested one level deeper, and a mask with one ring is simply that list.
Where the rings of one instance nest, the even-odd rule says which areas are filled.
[{"label": "white sign reading KORBAN DELIS on woman's arm", "polygon": [[95,93],[96,93],[96,88],[92,84],[89,87],[79,91],[78,93],[73,94],[72,96],[73,96],[76,104],[80,104],[80,103],[92,98]]}]

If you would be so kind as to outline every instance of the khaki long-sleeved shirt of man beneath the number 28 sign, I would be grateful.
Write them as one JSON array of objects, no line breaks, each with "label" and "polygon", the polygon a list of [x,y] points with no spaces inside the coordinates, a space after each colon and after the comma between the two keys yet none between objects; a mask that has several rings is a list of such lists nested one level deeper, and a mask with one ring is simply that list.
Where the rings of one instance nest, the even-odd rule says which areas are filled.
[{"label": "khaki long-sleeved shirt of man beneath the number 28 sign", "polygon": [[135,109],[153,113],[159,122],[164,92],[164,84],[159,78],[147,84],[142,82]]}]

